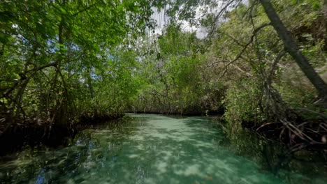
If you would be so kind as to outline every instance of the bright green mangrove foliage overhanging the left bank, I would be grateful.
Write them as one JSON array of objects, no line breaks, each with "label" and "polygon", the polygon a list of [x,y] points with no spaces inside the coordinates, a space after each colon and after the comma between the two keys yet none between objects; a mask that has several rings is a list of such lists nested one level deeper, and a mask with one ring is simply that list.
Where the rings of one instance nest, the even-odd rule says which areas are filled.
[{"label": "bright green mangrove foliage overhanging the left bank", "polygon": [[[136,94],[128,35],[152,27],[151,3],[1,1],[1,117],[69,123],[120,114]],[[3,118],[1,118],[1,121]]]}]

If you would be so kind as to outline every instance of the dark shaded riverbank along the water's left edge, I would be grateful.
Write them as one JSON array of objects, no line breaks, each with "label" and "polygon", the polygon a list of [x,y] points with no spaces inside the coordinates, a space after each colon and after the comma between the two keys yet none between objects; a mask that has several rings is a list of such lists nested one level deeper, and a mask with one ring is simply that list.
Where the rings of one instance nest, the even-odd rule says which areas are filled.
[{"label": "dark shaded riverbank along the water's left edge", "polygon": [[24,146],[31,148],[40,145],[57,147],[68,144],[68,141],[75,137],[81,130],[104,122],[115,123],[115,120],[122,118],[124,114],[110,116],[80,116],[78,121],[68,125],[56,125],[50,123],[25,122],[16,123],[0,130],[0,156],[20,151]]}]

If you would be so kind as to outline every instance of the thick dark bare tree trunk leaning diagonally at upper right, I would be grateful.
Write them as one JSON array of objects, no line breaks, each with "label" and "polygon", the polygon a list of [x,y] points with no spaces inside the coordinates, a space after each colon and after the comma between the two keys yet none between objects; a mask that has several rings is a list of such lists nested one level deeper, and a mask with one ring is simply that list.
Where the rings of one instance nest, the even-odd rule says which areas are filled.
[{"label": "thick dark bare tree trunk leaning diagonally at upper right", "polygon": [[310,65],[309,61],[307,61],[302,52],[300,52],[298,44],[291,36],[291,33],[289,33],[289,31],[286,29],[282,20],[280,20],[270,0],[259,1],[261,2],[266,14],[268,15],[271,24],[275,28],[275,31],[277,31],[279,38],[282,39],[287,52],[289,52],[293,59],[295,59],[300,69],[305,73],[305,76],[307,76],[310,82],[317,89],[319,97],[321,98],[319,100],[319,104],[327,108],[327,84],[323,79],[321,79],[318,73]]}]

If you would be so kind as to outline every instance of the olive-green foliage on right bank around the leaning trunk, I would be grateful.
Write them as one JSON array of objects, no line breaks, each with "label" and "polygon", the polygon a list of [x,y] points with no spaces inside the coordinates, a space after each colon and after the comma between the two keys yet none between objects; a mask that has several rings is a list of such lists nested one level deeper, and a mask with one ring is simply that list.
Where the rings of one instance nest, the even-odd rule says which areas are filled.
[{"label": "olive-green foliage on right bank around the leaning trunk", "polygon": [[[317,70],[325,68],[324,34],[327,32],[317,23],[323,21],[321,1],[273,3],[312,66]],[[224,73],[221,82],[228,84],[224,98],[226,120],[236,127],[258,127],[277,121],[272,114],[281,116],[284,109],[317,111],[313,105],[317,93],[291,56],[285,54],[273,68],[283,44],[272,26],[256,31],[269,22],[263,8],[254,6],[249,11],[248,6],[242,5],[231,10],[226,17],[228,21],[219,25],[210,53],[210,58],[215,58],[216,62],[207,61],[215,63],[215,69]],[[300,114],[308,118],[303,112]],[[283,116],[286,117],[287,113]]]}]

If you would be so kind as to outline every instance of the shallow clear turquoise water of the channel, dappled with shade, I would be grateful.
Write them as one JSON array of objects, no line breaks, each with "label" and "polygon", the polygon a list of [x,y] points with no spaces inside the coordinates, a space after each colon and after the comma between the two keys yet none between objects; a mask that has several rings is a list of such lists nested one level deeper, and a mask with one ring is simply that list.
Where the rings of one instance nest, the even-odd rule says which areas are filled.
[{"label": "shallow clear turquoise water of the channel, dappled with shade", "polygon": [[317,156],[285,158],[283,148],[212,118],[128,116],[84,130],[64,148],[2,160],[0,183],[327,183]]}]

